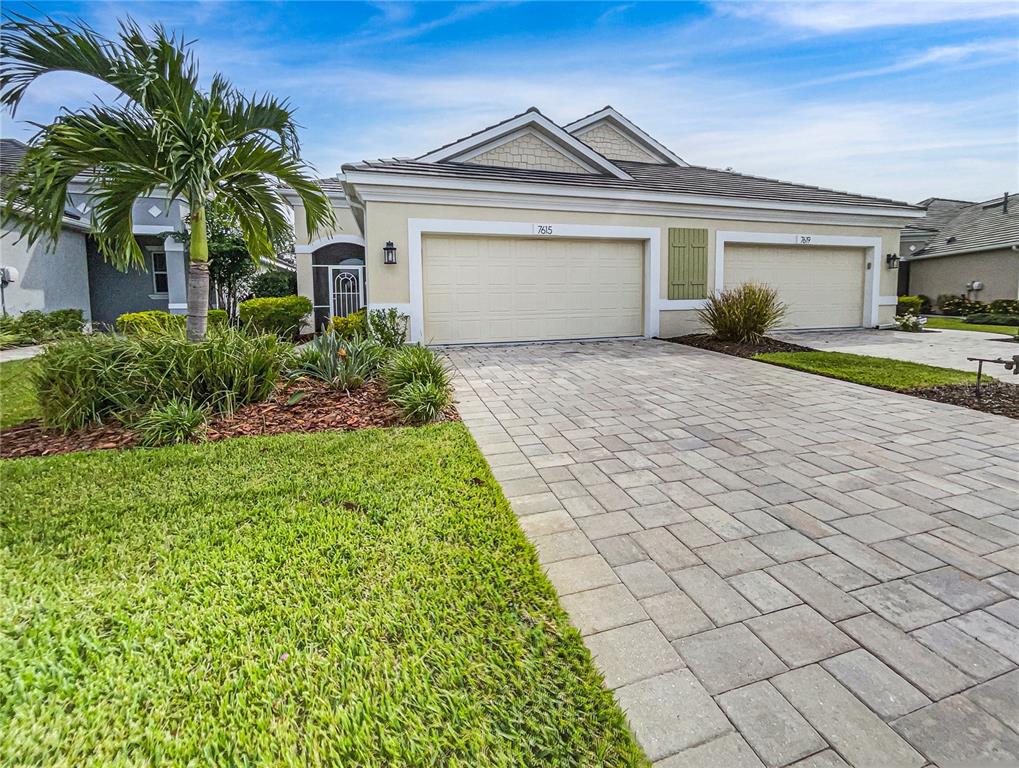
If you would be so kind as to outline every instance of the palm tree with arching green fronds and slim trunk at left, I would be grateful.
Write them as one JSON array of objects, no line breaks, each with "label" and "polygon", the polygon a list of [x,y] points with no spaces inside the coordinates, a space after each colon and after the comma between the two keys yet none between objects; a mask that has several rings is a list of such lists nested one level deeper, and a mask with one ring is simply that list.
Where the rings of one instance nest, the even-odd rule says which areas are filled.
[{"label": "palm tree with arching green fronds and slim trunk at left", "polygon": [[3,19],[0,104],[13,114],[40,76],[91,75],[119,92],[112,103],[65,111],[38,125],[7,193],[4,222],[30,243],[56,240],[75,177],[90,179],[92,228],[103,257],[119,269],[143,265],[131,209],[157,187],[191,209],[187,337],[205,337],[209,312],[206,205],[218,200],[236,218],[252,258],[272,257],[289,228],[283,186],[304,203],[309,232],[333,222],[332,207],[301,161],[297,124],[285,101],[248,98],[220,74],[199,88],[190,44],[160,25],[147,38],[132,20],[116,40],[84,22],[19,14]]}]

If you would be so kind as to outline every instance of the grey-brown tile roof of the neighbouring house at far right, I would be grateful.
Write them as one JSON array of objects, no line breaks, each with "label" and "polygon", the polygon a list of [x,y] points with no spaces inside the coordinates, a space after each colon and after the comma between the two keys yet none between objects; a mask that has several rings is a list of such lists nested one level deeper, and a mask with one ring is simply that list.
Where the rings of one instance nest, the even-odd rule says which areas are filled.
[{"label": "grey-brown tile roof of the neighbouring house at far right", "polygon": [[1009,197],[1007,212],[1003,203],[997,198],[957,210],[907,261],[1019,245],[1019,196]]}]

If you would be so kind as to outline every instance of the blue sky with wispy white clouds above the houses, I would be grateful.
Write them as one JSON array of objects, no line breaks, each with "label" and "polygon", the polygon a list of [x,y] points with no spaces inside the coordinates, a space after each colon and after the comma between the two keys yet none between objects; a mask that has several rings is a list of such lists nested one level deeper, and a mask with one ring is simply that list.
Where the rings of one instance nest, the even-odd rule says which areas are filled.
[{"label": "blue sky with wispy white clouds above the houses", "polygon": [[[919,201],[1019,190],[1019,3],[6,2],[195,40],[206,76],[288,98],[321,175],[539,107],[611,104],[697,165]],[[106,96],[54,74],[24,121]]]}]

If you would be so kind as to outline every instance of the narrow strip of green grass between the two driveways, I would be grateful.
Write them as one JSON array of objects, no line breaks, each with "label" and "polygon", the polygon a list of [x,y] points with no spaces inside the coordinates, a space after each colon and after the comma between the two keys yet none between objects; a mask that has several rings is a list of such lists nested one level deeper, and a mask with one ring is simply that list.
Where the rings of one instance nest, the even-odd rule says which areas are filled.
[{"label": "narrow strip of green grass between the two driveways", "polygon": [[975,373],[848,352],[766,352],[754,355],[754,360],[881,389],[972,384],[976,381]]}]

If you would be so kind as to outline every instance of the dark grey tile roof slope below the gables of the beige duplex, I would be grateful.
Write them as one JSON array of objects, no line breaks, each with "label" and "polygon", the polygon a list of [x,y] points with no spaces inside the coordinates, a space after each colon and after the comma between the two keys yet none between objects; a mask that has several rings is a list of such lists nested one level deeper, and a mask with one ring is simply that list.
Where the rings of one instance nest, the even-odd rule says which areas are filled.
[{"label": "dark grey tile roof slope below the gables of the beige duplex", "polygon": [[522,168],[499,168],[469,163],[423,163],[416,160],[378,160],[348,163],[343,171],[372,171],[409,174],[422,177],[457,178],[475,181],[520,182],[530,184],[567,184],[620,190],[672,193],[676,195],[701,195],[736,200],[762,200],[781,203],[806,203],[814,205],[868,206],[877,208],[912,208],[887,198],[826,189],[820,186],[797,184],[762,176],[751,176],[733,171],[716,170],[701,166],[661,165],[613,161],[633,179],[615,178],[590,173],[560,173]]}]

